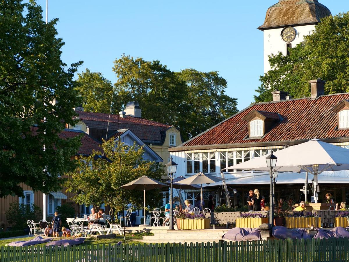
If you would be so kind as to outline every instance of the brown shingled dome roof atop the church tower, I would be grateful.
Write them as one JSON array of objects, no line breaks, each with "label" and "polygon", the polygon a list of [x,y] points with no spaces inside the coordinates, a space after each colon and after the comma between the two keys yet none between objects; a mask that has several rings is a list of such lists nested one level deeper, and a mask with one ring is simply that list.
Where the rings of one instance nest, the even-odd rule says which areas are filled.
[{"label": "brown shingled dome roof atop the church tower", "polygon": [[264,24],[258,29],[317,24],[329,15],[331,11],[318,0],[279,0],[268,8]]}]

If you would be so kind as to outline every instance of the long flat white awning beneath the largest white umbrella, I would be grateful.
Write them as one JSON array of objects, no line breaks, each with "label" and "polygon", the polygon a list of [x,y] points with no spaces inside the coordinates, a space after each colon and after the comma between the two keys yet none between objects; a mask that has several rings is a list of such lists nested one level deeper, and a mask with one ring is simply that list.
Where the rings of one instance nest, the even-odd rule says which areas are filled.
[{"label": "long flat white awning beneath the largest white umbrella", "polygon": [[[314,178],[314,175],[309,174],[309,183]],[[276,179],[276,185],[279,184],[304,184],[305,173],[293,173],[293,172],[279,172]],[[268,173],[256,174],[254,176],[242,177],[236,179],[227,179],[225,181],[227,185],[253,185],[253,184],[270,184],[270,176]],[[335,177],[335,176],[318,176],[319,184],[349,184],[349,177]],[[217,182],[204,187],[214,187],[222,185],[222,182]]]}]

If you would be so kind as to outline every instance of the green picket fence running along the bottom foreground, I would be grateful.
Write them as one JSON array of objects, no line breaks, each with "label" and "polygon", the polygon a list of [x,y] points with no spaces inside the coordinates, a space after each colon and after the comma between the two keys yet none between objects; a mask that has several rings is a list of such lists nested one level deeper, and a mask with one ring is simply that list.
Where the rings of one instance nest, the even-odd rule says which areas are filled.
[{"label": "green picket fence running along the bottom foreground", "polygon": [[2,261],[283,262],[348,261],[349,239],[1,247]]}]

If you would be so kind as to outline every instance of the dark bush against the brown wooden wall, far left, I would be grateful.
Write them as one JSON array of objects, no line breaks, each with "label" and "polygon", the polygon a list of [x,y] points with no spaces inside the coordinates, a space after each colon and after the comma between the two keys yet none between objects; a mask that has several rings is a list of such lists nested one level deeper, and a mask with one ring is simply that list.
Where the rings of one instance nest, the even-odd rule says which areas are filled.
[{"label": "dark bush against the brown wooden wall, far left", "polygon": [[7,222],[17,229],[26,228],[27,220],[38,222],[42,217],[41,209],[38,206],[34,204],[29,206],[18,202],[11,203],[5,214]]}]

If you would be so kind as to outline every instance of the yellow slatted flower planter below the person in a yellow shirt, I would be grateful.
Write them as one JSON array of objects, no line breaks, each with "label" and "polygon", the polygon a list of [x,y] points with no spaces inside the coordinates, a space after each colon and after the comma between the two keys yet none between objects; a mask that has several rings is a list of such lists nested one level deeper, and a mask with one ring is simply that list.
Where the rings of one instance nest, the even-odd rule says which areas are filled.
[{"label": "yellow slatted flower planter below the person in a yellow shirt", "polygon": [[307,228],[313,225],[318,227],[321,225],[320,217],[311,211],[306,212],[285,212],[285,220],[287,228]]}]

